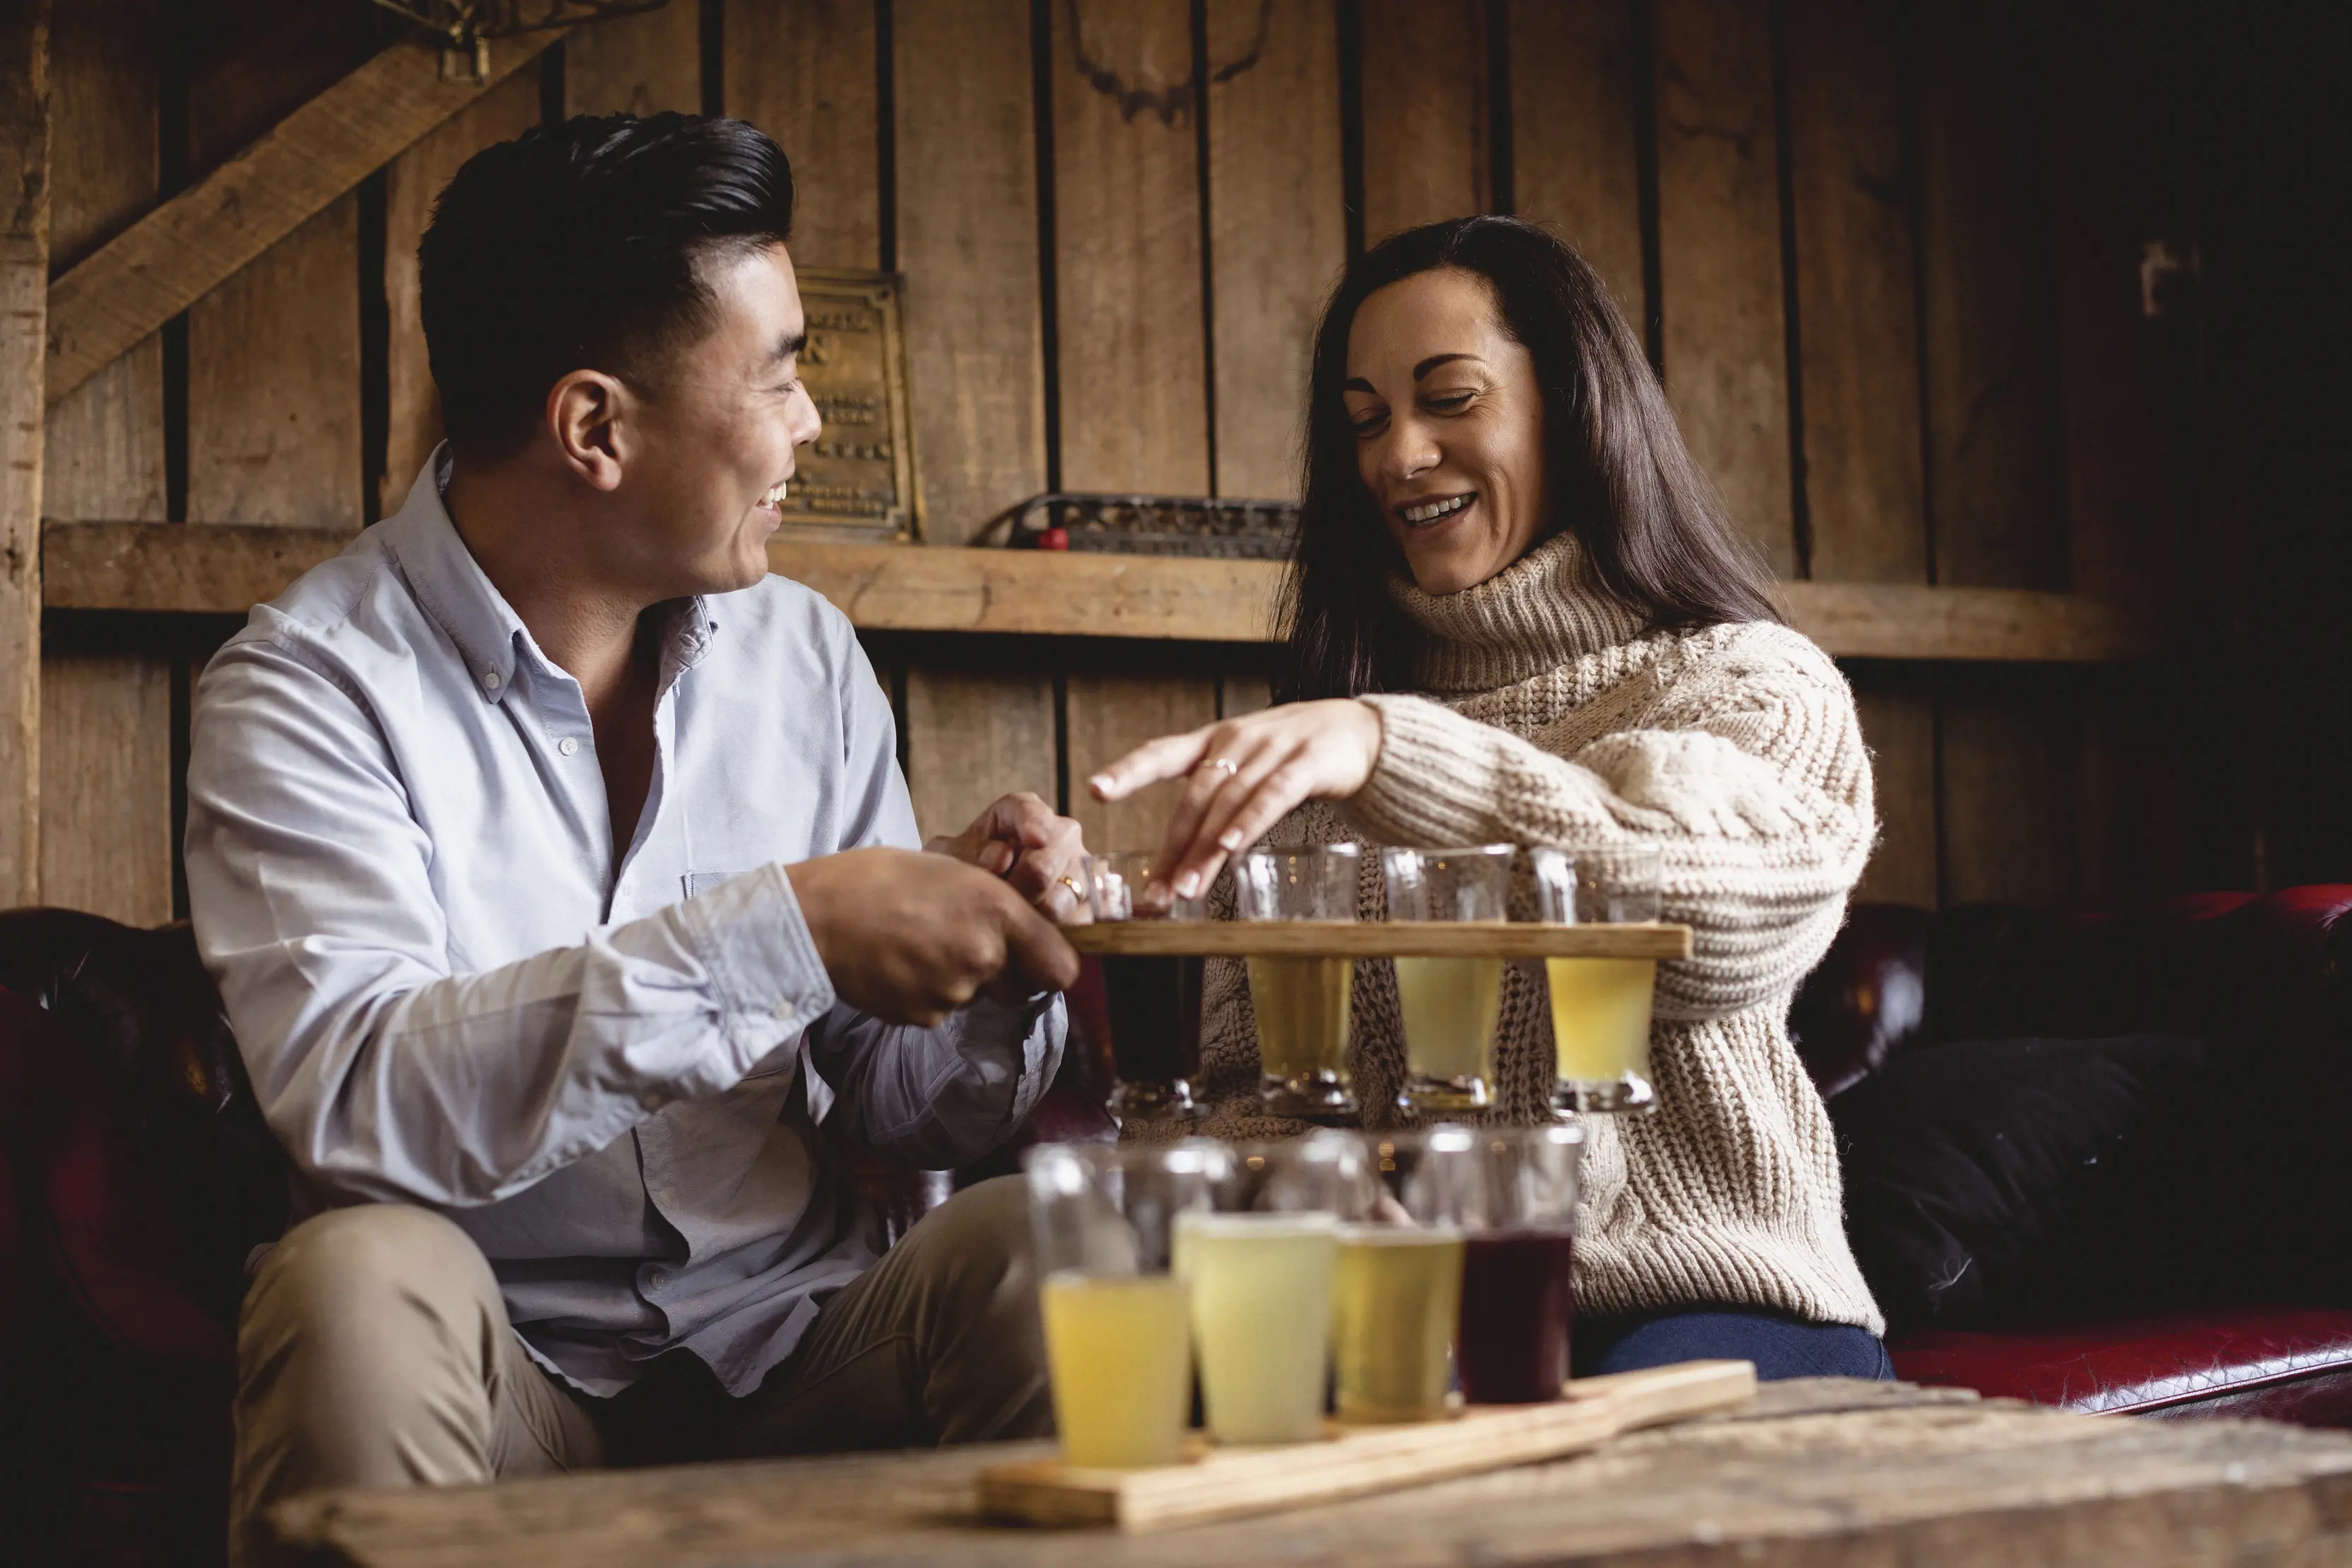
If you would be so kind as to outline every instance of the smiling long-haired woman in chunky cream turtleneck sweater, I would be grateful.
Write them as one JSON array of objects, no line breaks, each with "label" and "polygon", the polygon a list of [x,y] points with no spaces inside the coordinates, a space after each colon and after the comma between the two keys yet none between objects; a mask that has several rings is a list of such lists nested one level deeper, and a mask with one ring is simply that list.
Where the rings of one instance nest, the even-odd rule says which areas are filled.
[{"label": "smiling long-haired woman in chunky cream turtleneck sweater", "polygon": [[[1277,842],[1665,851],[1658,1112],[1588,1121],[1578,1373],[1745,1356],[1891,1375],[1846,1246],[1837,1150],[1788,1006],[1870,853],[1870,762],[1837,665],[1780,621],[1642,343],[1564,242],[1416,228],[1348,268],[1315,336],[1284,703],[1152,741],[1101,799],[1188,778],[1162,863],[1192,896]],[[1378,875],[1364,917],[1376,919]],[[1404,1074],[1395,985],[1357,987],[1357,1084]],[[1237,964],[1204,997],[1216,1128],[1256,1117]],[[1510,971],[1505,1114],[1545,1114],[1541,973]]]}]

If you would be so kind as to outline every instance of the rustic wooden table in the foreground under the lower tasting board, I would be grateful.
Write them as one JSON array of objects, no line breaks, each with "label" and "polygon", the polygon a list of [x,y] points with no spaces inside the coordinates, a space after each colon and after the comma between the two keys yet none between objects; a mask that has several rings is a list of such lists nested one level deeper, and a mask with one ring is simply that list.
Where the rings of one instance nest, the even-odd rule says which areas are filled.
[{"label": "rustic wooden table in the foreground under the lower tasting board", "polygon": [[983,1465],[1044,1443],[602,1472],[278,1512],[367,1568],[1907,1568],[2352,1561],[2352,1436],[2067,1415],[1818,1378],[1555,1465],[1164,1535],[974,1516]]}]

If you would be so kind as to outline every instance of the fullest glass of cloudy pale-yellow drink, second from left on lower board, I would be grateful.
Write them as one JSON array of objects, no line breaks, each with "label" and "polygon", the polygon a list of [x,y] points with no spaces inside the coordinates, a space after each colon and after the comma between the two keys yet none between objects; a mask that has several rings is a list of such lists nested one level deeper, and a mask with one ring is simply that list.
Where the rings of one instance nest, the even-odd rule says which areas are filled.
[{"label": "fullest glass of cloudy pale-yellow drink, second from left on lower board", "polygon": [[1218,1190],[1216,1211],[1176,1215],[1200,1401],[1218,1443],[1322,1436],[1338,1225],[1364,1182],[1362,1138],[1317,1131],[1235,1147],[1235,1182]]}]

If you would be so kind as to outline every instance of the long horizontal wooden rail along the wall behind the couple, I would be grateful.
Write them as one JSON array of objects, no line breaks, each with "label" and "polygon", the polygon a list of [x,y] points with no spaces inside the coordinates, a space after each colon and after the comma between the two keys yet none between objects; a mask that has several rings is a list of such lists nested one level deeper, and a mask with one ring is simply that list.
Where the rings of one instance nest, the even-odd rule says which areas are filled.
[{"label": "long horizontal wooden rail along the wall behind the couple", "polygon": [[[346,534],[172,522],[42,524],[45,609],[242,614]],[[1279,562],[774,541],[769,567],[873,632],[1270,642]],[[2103,663],[2159,642],[2138,614],[2065,592],[1783,583],[1839,658]]]}]

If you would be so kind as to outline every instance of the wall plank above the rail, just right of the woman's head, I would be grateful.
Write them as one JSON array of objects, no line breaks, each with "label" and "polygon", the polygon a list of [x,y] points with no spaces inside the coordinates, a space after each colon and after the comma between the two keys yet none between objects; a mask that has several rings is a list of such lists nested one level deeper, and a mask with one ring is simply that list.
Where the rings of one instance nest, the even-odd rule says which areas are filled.
[{"label": "wall plank above the rail, just right of the woman's head", "polygon": [[1691,456],[1797,576],[1780,176],[1764,0],[1658,0],[1658,308]]}]

